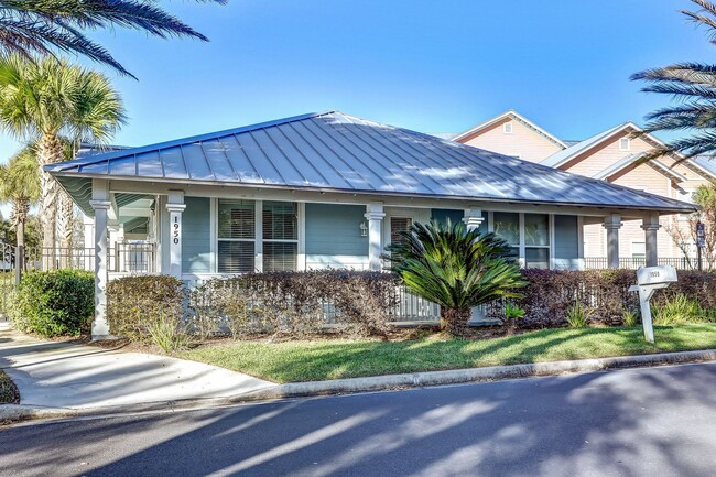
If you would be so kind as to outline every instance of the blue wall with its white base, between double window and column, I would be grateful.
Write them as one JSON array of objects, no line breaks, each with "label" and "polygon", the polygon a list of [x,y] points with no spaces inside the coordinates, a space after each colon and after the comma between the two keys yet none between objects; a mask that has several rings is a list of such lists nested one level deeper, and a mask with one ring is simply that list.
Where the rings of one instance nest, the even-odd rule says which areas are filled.
[{"label": "blue wall with its white base, between double window and column", "polygon": [[306,269],[368,269],[368,237],[361,236],[364,205],[306,204]]}]

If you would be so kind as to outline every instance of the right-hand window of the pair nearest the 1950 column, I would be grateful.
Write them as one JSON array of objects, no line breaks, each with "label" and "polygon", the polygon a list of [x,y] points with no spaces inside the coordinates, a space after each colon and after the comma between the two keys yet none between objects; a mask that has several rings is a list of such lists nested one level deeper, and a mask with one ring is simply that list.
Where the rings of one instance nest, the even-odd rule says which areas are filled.
[{"label": "right-hand window of the pair nearest the 1950 column", "polygon": [[299,206],[294,202],[263,203],[263,271],[296,270]]}]

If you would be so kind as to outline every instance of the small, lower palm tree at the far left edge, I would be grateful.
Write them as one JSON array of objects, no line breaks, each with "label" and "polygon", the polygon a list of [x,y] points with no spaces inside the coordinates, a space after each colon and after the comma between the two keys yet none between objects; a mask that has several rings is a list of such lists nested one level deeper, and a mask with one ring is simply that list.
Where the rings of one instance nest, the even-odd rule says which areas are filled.
[{"label": "small, lower palm tree at the far left edge", "polygon": [[31,147],[15,154],[8,164],[0,165],[0,202],[12,204],[12,225],[17,245],[25,245],[25,221],[30,206],[40,197],[37,159]]}]

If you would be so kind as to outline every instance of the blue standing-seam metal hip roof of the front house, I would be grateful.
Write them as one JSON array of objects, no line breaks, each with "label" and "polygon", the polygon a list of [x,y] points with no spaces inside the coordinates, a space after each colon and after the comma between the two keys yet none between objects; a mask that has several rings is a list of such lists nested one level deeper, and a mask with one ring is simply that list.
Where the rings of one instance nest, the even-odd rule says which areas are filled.
[{"label": "blue standing-seam metal hip roof of the front house", "polygon": [[76,199],[88,191],[79,178],[104,177],[693,210],[679,200],[338,111],[121,149],[45,170]]}]

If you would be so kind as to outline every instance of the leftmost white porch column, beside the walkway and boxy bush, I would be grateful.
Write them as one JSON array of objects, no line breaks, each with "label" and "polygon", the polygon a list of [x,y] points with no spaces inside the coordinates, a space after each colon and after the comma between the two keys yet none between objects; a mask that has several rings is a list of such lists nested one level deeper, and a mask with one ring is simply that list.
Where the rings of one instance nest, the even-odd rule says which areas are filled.
[{"label": "leftmost white porch column, beside the walkway and boxy bush", "polygon": [[[95,193],[93,193],[95,196]],[[95,209],[95,319],[93,321],[93,339],[109,336],[107,323],[107,210],[109,200],[90,200]]]}]

